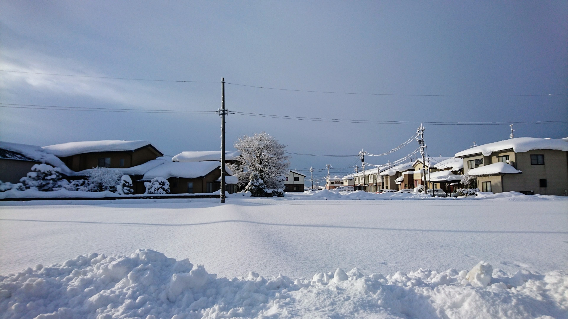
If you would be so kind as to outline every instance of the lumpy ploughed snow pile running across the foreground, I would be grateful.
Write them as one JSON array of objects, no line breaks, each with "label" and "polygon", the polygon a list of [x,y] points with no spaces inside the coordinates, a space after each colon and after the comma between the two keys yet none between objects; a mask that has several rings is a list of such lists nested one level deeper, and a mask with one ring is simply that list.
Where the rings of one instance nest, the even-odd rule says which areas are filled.
[{"label": "lumpy ploughed snow pile running across the foreground", "polygon": [[[189,259],[140,249],[91,253],[0,276],[0,318],[537,318],[568,316],[565,272],[515,275],[480,262],[471,271],[420,268],[310,279],[217,278]],[[548,317],[541,317],[548,318]]]}]

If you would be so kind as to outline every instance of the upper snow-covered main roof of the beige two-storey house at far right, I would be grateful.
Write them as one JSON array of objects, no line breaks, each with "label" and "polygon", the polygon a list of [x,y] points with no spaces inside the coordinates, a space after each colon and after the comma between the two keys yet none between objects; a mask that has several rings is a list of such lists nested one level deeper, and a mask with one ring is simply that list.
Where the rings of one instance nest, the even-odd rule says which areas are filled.
[{"label": "upper snow-covered main roof of the beige two-storey house at far right", "polygon": [[462,150],[461,152],[456,153],[456,157],[465,157],[480,153],[483,154],[483,156],[490,156],[493,152],[507,149],[512,149],[515,153],[528,152],[533,149],[556,149],[568,151],[568,142],[563,139],[517,137]]}]

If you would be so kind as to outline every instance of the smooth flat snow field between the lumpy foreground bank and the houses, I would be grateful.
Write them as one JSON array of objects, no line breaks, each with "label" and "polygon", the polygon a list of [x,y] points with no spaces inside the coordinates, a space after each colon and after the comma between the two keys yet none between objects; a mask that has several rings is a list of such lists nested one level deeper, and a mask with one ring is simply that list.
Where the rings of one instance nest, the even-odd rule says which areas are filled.
[{"label": "smooth flat snow field between the lumpy foreground bank and the houses", "polygon": [[444,271],[481,260],[508,272],[568,268],[568,201],[517,197],[2,203],[0,274],[141,248],[189,258],[220,276],[308,278],[337,267],[366,274]]}]

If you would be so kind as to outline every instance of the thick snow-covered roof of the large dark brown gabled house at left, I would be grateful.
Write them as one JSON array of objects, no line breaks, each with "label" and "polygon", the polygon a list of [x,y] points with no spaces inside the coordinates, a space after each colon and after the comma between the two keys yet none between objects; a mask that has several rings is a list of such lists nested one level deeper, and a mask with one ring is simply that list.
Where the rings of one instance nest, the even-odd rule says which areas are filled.
[{"label": "thick snow-covered roof of the large dark brown gabled house at left", "polygon": [[43,146],[46,152],[59,157],[73,156],[82,153],[92,152],[118,152],[137,150],[144,146],[152,146],[159,156],[164,156],[148,141],[121,141],[121,140],[106,140],[106,141],[83,141],[83,142],[69,142],[63,144],[55,144]]}]

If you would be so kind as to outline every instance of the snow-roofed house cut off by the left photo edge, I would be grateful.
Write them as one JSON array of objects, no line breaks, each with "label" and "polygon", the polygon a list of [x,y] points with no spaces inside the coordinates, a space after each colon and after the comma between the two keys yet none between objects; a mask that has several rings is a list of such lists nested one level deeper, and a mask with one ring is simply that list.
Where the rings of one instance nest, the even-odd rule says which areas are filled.
[{"label": "snow-roofed house cut off by the left photo edge", "polygon": [[40,146],[0,141],[0,181],[18,183],[30,173],[32,166],[40,163],[60,167],[65,175],[73,173],[59,158]]}]

